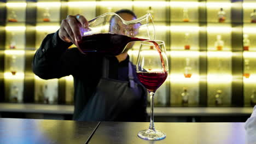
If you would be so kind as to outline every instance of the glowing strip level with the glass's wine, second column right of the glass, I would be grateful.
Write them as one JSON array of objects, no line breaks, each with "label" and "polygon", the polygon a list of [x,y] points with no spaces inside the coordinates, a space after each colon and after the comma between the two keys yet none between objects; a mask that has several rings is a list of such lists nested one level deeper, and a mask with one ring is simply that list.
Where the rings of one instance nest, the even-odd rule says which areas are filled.
[{"label": "glowing strip level with the glass's wine, second column right of the glass", "polygon": [[210,83],[230,83],[232,82],[232,75],[229,74],[208,74],[207,82]]}]

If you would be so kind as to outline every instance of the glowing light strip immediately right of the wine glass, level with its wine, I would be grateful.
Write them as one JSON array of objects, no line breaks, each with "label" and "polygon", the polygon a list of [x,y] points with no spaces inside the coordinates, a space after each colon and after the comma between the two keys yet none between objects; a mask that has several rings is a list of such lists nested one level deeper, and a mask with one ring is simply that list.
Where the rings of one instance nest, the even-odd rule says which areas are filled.
[{"label": "glowing light strip immediately right of the wine glass, level with its wine", "polygon": [[183,74],[171,74],[170,81],[175,83],[197,83],[199,82],[200,77],[198,74],[192,74],[190,78],[186,78]]}]

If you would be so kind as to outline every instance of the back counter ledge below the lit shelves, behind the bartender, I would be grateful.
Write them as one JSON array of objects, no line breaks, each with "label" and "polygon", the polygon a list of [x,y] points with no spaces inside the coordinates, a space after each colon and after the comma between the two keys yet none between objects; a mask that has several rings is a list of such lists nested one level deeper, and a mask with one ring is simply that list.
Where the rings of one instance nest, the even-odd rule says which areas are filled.
[{"label": "back counter ledge below the lit shelves, behind the bartender", "polygon": [[[69,114],[73,105],[0,103],[0,112]],[[253,107],[155,107],[155,116],[250,116]],[[150,113],[149,107],[147,112]]]}]

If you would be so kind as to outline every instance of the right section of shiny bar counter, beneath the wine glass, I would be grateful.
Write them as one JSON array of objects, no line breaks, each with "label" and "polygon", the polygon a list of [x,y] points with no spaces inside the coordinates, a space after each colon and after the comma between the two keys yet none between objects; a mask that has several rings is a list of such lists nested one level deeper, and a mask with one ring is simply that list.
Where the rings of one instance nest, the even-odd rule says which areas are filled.
[{"label": "right section of shiny bar counter, beneath the wine glass", "polygon": [[139,130],[149,123],[101,122],[89,144],[243,144],[246,143],[244,123],[155,123],[166,138],[160,141],[142,140]]}]

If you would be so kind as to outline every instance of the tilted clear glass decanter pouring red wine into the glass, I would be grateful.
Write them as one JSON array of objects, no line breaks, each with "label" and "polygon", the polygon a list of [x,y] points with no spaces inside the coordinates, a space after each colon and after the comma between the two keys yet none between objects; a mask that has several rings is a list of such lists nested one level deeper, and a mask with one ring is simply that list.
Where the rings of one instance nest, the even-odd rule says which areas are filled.
[{"label": "tilted clear glass decanter pouring red wine into the glass", "polygon": [[89,27],[80,27],[82,40],[75,42],[80,52],[119,55],[129,49],[132,41],[155,39],[155,28],[150,13],[132,21],[125,21],[115,13],[106,13],[89,21]]}]

